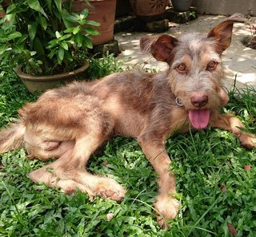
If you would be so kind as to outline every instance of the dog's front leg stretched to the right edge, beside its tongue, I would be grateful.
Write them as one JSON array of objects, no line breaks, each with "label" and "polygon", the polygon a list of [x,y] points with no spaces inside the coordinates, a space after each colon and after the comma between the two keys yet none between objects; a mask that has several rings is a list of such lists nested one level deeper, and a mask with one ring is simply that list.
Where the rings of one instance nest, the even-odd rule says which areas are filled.
[{"label": "dog's front leg stretched to the right edge, beside its tongue", "polygon": [[237,136],[241,144],[249,149],[256,148],[256,136],[247,132],[242,132],[245,128],[242,121],[232,114],[218,114],[210,119],[210,125],[215,128],[228,130]]}]

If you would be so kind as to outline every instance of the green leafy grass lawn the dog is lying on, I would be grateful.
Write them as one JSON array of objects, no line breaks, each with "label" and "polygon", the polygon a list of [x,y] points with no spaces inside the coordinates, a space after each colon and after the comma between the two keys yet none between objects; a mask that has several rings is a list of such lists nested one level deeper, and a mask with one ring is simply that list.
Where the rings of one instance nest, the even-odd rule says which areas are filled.
[{"label": "green leafy grass lawn the dog is lying on", "polygon": [[[2,68],[0,125],[34,101],[14,73]],[[230,90],[224,109],[238,115],[256,133],[256,90]],[[1,155],[0,236],[251,236],[256,233],[256,156],[230,132],[207,128],[166,141],[176,174],[181,209],[163,231],[154,218],[156,173],[137,142],[116,137],[90,159],[90,172],[113,177],[128,192],[120,202],[78,192],[66,196],[27,173],[44,163],[27,160],[23,149]],[[1,164],[1,163],[0,163]],[[246,171],[245,166],[250,165]],[[114,217],[107,220],[107,215]],[[232,234],[234,233],[234,234]]]}]

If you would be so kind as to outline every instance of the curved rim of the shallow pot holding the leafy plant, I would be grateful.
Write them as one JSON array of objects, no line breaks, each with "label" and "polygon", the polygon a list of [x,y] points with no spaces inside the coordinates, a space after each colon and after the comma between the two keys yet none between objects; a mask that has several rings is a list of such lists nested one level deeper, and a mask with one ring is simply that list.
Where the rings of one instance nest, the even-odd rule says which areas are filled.
[{"label": "curved rim of the shallow pot holding the leafy plant", "polygon": [[24,73],[22,72],[21,65],[18,65],[16,68],[14,68],[14,72],[18,75],[18,77],[22,77],[26,81],[58,81],[61,78],[66,79],[84,72],[89,67],[89,65],[90,65],[89,61],[85,61],[84,65],[82,65],[78,69],[75,69],[74,71],[67,72],[67,73],[58,73],[58,74],[48,75],[48,76],[33,76],[30,74]]}]

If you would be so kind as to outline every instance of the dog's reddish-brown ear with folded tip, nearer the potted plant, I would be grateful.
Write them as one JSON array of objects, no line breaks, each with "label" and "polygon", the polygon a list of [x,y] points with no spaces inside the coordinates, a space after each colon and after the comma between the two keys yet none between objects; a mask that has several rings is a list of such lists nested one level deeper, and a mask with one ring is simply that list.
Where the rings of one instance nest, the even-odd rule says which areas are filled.
[{"label": "dog's reddish-brown ear with folded tip, nearer the potted plant", "polygon": [[161,36],[142,37],[140,39],[140,48],[142,53],[152,53],[158,61],[170,60],[170,53],[177,45],[178,40],[168,34]]}]

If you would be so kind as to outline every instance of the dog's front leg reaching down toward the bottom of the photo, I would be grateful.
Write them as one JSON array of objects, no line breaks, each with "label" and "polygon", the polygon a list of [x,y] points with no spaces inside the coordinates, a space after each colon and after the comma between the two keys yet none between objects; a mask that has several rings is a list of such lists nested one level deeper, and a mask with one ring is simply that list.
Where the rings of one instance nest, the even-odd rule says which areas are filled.
[{"label": "dog's front leg reaching down toward the bottom of the photo", "polygon": [[145,140],[143,136],[138,137],[138,143],[142,147],[146,158],[158,172],[159,195],[154,207],[159,212],[158,223],[166,228],[166,220],[173,219],[178,213],[178,200],[175,199],[175,177],[170,173],[170,157],[166,152],[164,141]]}]

